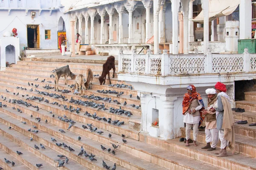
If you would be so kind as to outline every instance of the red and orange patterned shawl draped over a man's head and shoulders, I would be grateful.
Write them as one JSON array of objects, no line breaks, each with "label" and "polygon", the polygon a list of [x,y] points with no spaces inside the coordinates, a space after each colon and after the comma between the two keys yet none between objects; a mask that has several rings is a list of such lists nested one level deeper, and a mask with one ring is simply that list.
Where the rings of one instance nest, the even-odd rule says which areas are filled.
[{"label": "red and orange patterned shawl draped over a man's head and shoulders", "polygon": [[203,108],[200,109],[200,122],[199,126],[201,123],[204,121],[203,116],[203,111],[204,111],[204,101],[199,93],[196,92],[196,88],[194,85],[189,85],[187,89],[190,90],[192,88],[192,94],[190,95],[189,93],[185,93],[183,96],[183,101],[182,101],[182,114],[184,115],[186,111],[188,111],[189,106],[194,99],[198,99],[199,102],[203,105]]}]

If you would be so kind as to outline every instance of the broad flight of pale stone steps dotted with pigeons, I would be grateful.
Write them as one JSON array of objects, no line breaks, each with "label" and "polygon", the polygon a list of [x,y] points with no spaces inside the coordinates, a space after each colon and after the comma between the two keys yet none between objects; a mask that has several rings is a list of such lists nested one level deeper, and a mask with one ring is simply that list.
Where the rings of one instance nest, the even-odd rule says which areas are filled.
[{"label": "broad flight of pale stone steps dotted with pigeons", "polygon": [[[86,61],[85,61],[86,62]],[[7,68],[6,71],[0,72],[0,96],[6,97],[3,101],[0,98],[2,105],[7,105],[7,107],[0,108],[0,167],[4,169],[37,169],[36,164],[43,164],[40,169],[50,170],[50,169],[76,169],[76,170],[99,170],[105,169],[102,167],[102,160],[106,162],[111,168],[113,164],[116,163],[116,170],[187,170],[187,169],[205,169],[205,170],[217,170],[217,169],[256,169],[256,159],[255,156],[245,155],[243,153],[236,153],[233,156],[218,158],[211,152],[205,152],[200,148],[204,145],[204,140],[198,141],[198,147],[185,147],[183,142],[178,142],[178,139],[172,140],[162,140],[148,136],[145,133],[140,132],[140,122],[141,122],[141,109],[136,109],[131,107],[131,104],[140,105],[140,100],[137,99],[137,91],[130,90],[129,88],[116,88],[108,86],[108,80],[106,80],[105,85],[99,85],[98,76],[93,77],[93,89],[87,90],[85,95],[101,96],[101,97],[111,97],[112,102],[103,102],[102,100],[95,101],[92,99],[86,99],[82,96],[74,95],[73,92],[62,94],[61,92],[54,91],[54,89],[45,89],[44,85],[54,87],[54,78],[50,78],[52,70],[55,68],[62,67],[64,65],[69,65],[70,70],[74,74],[83,74],[85,68],[91,68],[93,74],[101,74],[102,71],[102,61],[95,61],[94,63],[67,63],[67,62],[43,62],[43,61],[21,61],[17,65],[12,65],[11,68]],[[117,66],[116,66],[117,68]],[[115,75],[115,77],[117,77]],[[38,78],[38,81],[35,79]],[[46,79],[45,82],[41,80]],[[51,81],[51,83],[47,82]],[[30,86],[28,85],[30,83]],[[112,84],[126,84],[125,82],[119,82],[117,78],[112,79]],[[34,87],[31,86],[34,84]],[[39,85],[35,89],[35,84]],[[59,89],[69,89],[68,85],[74,84],[74,80],[68,78],[67,85],[64,85],[64,78],[59,81]],[[27,90],[21,90],[23,87]],[[30,89],[33,91],[29,91]],[[97,90],[115,90],[117,92],[123,91],[124,94],[120,97],[116,97],[114,94],[102,94],[98,93]],[[7,92],[7,91],[10,92]],[[35,90],[44,91],[48,93],[55,93],[58,95],[65,96],[67,101],[63,99],[55,99],[50,96],[45,96],[43,94],[38,94]],[[15,94],[14,94],[15,93]],[[19,93],[19,95],[17,95]],[[130,98],[130,94],[132,97]],[[22,97],[24,95],[24,97]],[[51,105],[47,102],[39,100],[28,99],[29,97],[44,97],[44,100],[49,100],[49,103],[58,102],[59,105],[67,105],[67,107],[72,106],[72,108],[81,108],[80,113],[70,112],[65,110],[63,107],[58,105]],[[98,104],[104,104],[106,108],[118,109],[120,106],[125,111],[131,111],[133,115],[128,117],[124,114],[118,115],[110,113],[108,110],[97,110],[97,108],[92,108],[89,106],[76,105],[70,103],[71,97],[75,100],[81,101],[93,101]],[[9,99],[11,102],[9,103]],[[27,107],[26,105],[21,105],[12,103],[13,99],[23,100],[31,105],[38,106],[37,108]],[[27,99],[27,100],[26,100]],[[118,100],[121,105],[113,103],[113,100]],[[123,106],[124,102],[127,102],[126,106]],[[13,109],[15,108],[15,109]],[[19,108],[20,112],[17,111]],[[53,114],[55,117],[52,117]],[[90,114],[96,113],[97,116],[111,118],[113,120],[119,120],[120,122],[125,122],[124,125],[112,125],[107,122],[99,121],[84,115],[85,112]],[[32,117],[31,117],[32,115]],[[68,119],[72,119],[76,123],[67,130],[69,123],[63,122],[58,119],[58,116],[67,116]],[[41,122],[38,122],[35,118],[40,117]],[[47,119],[47,123],[45,120]],[[23,124],[22,122],[26,122]],[[82,125],[93,123],[93,127],[97,127],[98,131],[102,131],[101,135],[96,132],[91,132],[91,130],[84,129]],[[36,126],[35,129],[32,126]],[[12,127],[9,129],[9,127]],[[38,133],[28,131],[38,130]],[[59,130],[63,129],[65,133],[61,133]],[[111,138],[108,134],[111,133]],[[122,134],[125,135],[126,143],[122,141]],[[254,133],[255,134],[255,133]],[[78,140],[78,136],[81,140]],[[33,140],[30,141],[30,138]],[[52,142],[51,138],[57,140],[57,143],[65,143],[72,147],[75,151],[70,152],[64,147],[56,146],[56,142]],[[202,137],[203,138],[203,137]],[[101,145],[104,147],[111,148],[113,150],[112,144],[119,144],[119,147],[115,150],[115,154],[108,151],[102,151]],[[40,149],[36,150],[34,145],[37,145]],[[46,147],[42,150],[40,144]],[[78,156],[80,148],[83,146],[86,153],[96,155],[94,158],[97,161],[90,161],[84,155]],[[244,148],[241,148],[244,149]],[[250,148],[251,149],[251,148]],[[20,151],[23,154],[18,155],[16,151]],[[255,152],[255,149],[252,151]],[[64,164],[64,167],[58,167],[57,155],[67,156],[69,162]],[[14,161],[15,166],[11,164],[6,164],[4,158]],[[62,158],[61,160],[65,160]],[[110,169],[111,169],[110,168]]]}]

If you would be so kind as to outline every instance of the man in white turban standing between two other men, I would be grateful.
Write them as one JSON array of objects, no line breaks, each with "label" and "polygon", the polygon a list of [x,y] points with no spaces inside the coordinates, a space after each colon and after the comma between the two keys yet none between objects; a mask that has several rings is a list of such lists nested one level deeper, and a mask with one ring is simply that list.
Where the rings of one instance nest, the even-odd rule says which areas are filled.
[{"label": "man in white turban standing between two other men", "polygon": [[[205,141],[207,145],[202,147],[202,149],[208,149],[208,151],[215,150],[218,143],[218,129],[216,123],[216,111],[212,112],[215,102],[217,101],[217,94],[214,88],[208,88],[206,91],[208,97],[207,109],[204,111],[203,115],[206,117],[205,121]],[[212,142],[212,145],[210,145]]]}]

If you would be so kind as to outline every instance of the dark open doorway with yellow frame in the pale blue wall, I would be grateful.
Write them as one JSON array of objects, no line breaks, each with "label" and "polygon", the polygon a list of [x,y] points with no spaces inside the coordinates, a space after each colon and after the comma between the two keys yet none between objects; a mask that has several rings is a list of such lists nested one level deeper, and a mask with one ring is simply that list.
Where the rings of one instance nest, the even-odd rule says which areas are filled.
[{"label": "dark open doorway with yellow frame in the pale blue wall", "polygon": [[27,25],[28,48],[40,48],[39,25]]}]

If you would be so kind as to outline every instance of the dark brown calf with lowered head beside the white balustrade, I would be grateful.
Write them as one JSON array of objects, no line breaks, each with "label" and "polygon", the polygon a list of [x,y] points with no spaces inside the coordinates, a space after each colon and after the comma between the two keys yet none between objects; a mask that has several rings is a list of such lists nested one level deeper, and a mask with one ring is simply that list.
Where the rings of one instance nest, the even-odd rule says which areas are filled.
[{"label": "dark brown calf with lowered head beside the white balustrade", "polygon": [[100,85],[102,85],[102,83],[103,83],[103,85],[105,85],[107,74],[108,74],[109,84],[111,84],[110,75],[109,75],[110,74],[109,71],[111,71],[111,69],[113,69],[113,78],[115,78],[116,68],[115,68],[115,57],[114,56],[109,56],[107,61],[103,64],[102,75],[99,77]]}]

